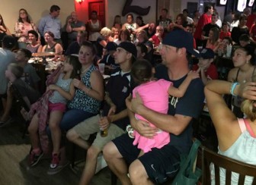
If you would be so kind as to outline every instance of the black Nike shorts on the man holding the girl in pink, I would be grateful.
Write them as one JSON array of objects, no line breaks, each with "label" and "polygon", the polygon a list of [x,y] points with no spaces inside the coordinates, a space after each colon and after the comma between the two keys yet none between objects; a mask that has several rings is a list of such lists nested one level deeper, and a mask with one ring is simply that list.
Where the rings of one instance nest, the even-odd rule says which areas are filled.
[{"label": "black Nike shorts on the man holding the girl in pink", "polygon": [[[140,149],[133,146],[133,140],[128,134],[113,140],[128,165],[138,158],[140,152]],[[173,178],[178,173],[181,161],[180,152],[171,145],[165,145],[162,149],[153,148],[138,159],[153,183],[163,183],[168,180],[168,177]]]}]

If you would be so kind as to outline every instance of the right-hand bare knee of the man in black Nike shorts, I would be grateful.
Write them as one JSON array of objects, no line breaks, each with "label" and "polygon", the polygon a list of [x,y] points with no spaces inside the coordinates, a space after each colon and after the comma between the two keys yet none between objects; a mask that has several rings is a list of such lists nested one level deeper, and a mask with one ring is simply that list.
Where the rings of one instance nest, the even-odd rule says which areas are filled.
[{"label": "right-hand bare knee of the man in black Nike shorts", "polygon": [[136,159],[129,167],[130,180],[133,184],[138,184],[141,180],[146,180],[148,175],[141,161]]}]

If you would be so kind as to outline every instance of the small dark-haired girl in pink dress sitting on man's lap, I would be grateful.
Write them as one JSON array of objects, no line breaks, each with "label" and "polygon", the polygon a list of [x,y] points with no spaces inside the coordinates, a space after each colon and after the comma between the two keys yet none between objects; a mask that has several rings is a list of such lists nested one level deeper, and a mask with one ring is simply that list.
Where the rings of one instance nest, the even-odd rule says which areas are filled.
[{"label": "small dark-haired girl in pink dress sitting on man's lap", "polygon": [[[198,78],[199,74],[196,72],[190,71],[187,74],[186,79],[181,86],[178,88],[173,86],[173,83],[167,80],[155,80],[153,78],[153,68],[149,61],[146,60],[137,60],[132,67],[131,75],[135,83],[139,86],[136,86],[133,89],[133,97],[136,97],[136,94],[142,99],[144,105],[147,108],[150,108],[154,111],[158,111],[163,114],[168,112],[168,98],[169,95],[175,97],[182,97],[187,90],[187,87],[190,84],[190,81]],[[142,118],[139,114],[135,114],[136,119],[147,121],[145,118]],[[149,121],[148,121],[149,122]],[[150,127],[155,127],[154,124],[149,123]],[[152,148],[161,149],[162,146],[165,146],[170,142],[170,133],[159,130],[158,134],[154,136],[153,139],[146,138],[141,136],[136,130],[133,131],[135,140],[133,145],[138,144],[138,149],[142,149],[139,156],[143,155],[146,152],[151,151]]]}]

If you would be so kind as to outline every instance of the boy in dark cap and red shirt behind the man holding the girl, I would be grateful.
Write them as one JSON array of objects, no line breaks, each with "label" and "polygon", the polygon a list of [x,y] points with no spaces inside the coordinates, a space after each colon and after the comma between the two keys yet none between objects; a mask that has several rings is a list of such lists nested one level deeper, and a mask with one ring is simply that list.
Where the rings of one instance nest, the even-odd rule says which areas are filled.
[{"label": "boy in dark cap and red shirt behind the man holding the girl", "polygon": [[213,64],[214,52],[212,49],[203,49],[200,52],[200,58],[198,64],[193,67],[194,71],[200,72],[200,77],[205,85],[208,80],[218,79],[218,71]]}]

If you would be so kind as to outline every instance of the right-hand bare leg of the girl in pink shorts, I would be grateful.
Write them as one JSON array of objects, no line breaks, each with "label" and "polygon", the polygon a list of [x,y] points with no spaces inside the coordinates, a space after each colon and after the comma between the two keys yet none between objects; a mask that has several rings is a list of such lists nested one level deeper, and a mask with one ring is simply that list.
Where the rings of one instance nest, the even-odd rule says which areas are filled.
[{"label": "right-hand bare leg of the girl in pink shorts", "polygon": [[53,153],[59,154],[59,147],[61,141],[61,130],[59,123],[62,120],[62,111],[52,111],[50,113],[49,127],[53,140]]}]

